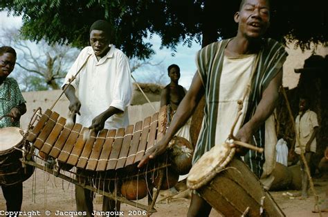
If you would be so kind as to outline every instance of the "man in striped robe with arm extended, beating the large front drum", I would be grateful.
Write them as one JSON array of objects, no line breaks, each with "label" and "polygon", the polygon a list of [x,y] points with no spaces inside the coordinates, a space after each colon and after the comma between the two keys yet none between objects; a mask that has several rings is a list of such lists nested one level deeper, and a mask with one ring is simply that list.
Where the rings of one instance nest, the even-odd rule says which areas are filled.
[{"label": "man in striped robe with arm extended, beating the large front drum", "polygon": [[[236,37],[215,42],[197,53],[197,73],[165,137],[143,157],[143,166],[165,152],[174,134],[192,115],[205,94],[204,118],[194,150],[193,163],[212,146],[224,144],[238,113],[238,104],[244,98],[242,116],[235,127],[235,140],[264,147],[265,121],[275,108],[279,87],[282,84],[282,64],[286,51],[272,39],[264,39],[270,22],[268,0],[243,0],[235,13],[238,23]],[[234,145],[232,145],[234,146]],[[239,155],[259,177],[264,154],[248,152],[236,146]],[[192,194],[188,216],[208,216],[212,207],[197,193]]]}]

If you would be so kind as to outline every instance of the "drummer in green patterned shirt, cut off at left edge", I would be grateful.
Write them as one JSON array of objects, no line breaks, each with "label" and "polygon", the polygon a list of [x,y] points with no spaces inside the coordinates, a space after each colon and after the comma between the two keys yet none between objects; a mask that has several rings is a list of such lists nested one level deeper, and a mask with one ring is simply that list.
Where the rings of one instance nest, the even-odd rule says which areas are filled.
[{"label": "drummer in green patterned shirt, cut off at left edge", "polygon": [[[26,105],[17,81],[8,78],[14,70],[16,63],[16,51],[10,46],[0,47],[0,128],[19,127],[21,115],[26,113]],[[21,173],[24,168],[19,161],[20,156],[16,152],[5,157],[0,156],[0,186],[6,199],[7,211],[20,211],[23,200],[23,184],[17,180],[8,184],[10,176]],[[10,175],[4,174],[8,165],[17,167]]]}]

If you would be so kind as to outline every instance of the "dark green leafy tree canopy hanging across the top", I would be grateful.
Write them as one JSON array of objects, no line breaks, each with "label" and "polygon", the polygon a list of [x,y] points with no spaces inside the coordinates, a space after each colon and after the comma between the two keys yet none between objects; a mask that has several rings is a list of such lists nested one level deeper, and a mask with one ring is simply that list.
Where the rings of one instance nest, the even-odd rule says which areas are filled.
[{"label": "dark green leafy tree canopy hanging across the top", "polygon": [[[145,37],[158,34],[162,46],[175,49],[179,43],[202,46],[219,37],[235,35],[233,15],[239,1],[219,0],[7,0],[0,10],[23,16],[22,34],[30,40],[86,46],[89,26],[106,19],[113,26],[113,44],[130,58],[149,58],[154,51]],[[268,36],[281,42],[297,40],[302,49],[327,42],[325,0],[275,0]],[[40,31],[42,30],[42,31]]]}]

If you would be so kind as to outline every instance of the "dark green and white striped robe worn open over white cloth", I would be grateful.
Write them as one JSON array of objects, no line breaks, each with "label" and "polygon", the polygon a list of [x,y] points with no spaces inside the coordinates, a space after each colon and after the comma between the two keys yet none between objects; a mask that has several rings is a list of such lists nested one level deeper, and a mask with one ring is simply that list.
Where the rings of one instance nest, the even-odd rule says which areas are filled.
[{"label": "dark green and white striped robe worn open over white cloth", "polygon": [[[197,68],[206,89],[206,106],[204,107],[203,126],[197,141],[197,150],[195,150],[194,153],[193,163],[197,162],[203,153],[210,150],[212,146],[215,146],[215,131],[217,127],[220,93],[219,83],[224,60],[224,49],[228,42],[229,40],[214,42],[197,53]],[[282,64],[286,60],[287,55],[284,47],[275,40],[264,39],[262,41],[262,49],[259,51],[259,62],[252,78],[248,107],[242,125],[249,121],[255,113],[264,89],[266,89],[271,80],[277,75],[280,69],[282,69]],[[264,132],[265,125],[263,124],[253,135],[253,144],[255,144],[255,146],[264,148]],[[244,157],[244,160],[255,175],[259,177],[262,173],[262,166],[265,161],[264,153],[259,154],[250,150]]]}]

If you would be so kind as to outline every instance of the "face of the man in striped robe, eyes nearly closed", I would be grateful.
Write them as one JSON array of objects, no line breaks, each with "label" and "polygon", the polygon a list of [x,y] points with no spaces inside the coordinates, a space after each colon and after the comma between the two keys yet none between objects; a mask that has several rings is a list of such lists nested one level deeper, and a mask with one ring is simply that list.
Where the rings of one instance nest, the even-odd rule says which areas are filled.
[{"label": "face of the man in striped robe, eyes nearly closed", "polygon": [[246,38],[259,38],[269,26],[270,8],[266,0],[246,0],[235,14],[238,32]]}]

